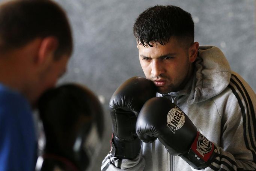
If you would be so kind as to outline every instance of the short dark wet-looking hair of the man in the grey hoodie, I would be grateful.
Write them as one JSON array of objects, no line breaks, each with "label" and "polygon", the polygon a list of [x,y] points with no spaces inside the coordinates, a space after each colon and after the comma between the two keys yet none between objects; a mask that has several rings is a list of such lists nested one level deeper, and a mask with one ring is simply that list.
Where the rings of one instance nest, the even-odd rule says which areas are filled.
[{"label": "short dark wet-looking hair of the man in the grey hoodie", "polygon": [[190,13],[177,6],[154,6],[146,9],[136,19],[133,33],[137,42],[151,46],[152,42],[164,45],[171,37],[185,43],[194,42],[194,22]]}]

